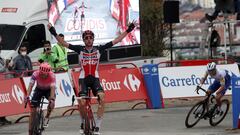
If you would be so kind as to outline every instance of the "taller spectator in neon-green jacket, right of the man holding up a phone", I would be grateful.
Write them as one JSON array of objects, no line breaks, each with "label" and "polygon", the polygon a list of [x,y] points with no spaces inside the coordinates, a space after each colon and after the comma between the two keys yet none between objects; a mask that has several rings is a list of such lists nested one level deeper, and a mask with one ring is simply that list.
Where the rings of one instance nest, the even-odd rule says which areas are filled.
[{"label": "taller spectator in neon-green jacket, right of the man holding up a phone", "polygon": [[[64,35],[59,34],[59,37],[61,37],[64,40]],[[57,43],[53,46],[52,51],[54,54],[57,55],[58,62],[55,63],[55,71],[56,72],[65,72],[69,69],[68,66],[68,60],[67,60],[67,48],[63,47],[61,43]]]}]

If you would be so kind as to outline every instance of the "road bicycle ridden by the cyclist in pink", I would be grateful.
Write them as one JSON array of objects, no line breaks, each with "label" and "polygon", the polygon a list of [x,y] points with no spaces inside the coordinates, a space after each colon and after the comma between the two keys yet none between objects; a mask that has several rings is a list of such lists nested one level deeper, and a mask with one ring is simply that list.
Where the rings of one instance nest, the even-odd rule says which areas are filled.
[{"label": "road bicycle ridden by the cyclist in pink", "polygon": [[[39,102],[35,100],[28,100],[31,102]],[[31,131],[32,135],[42,135],[42,132],[44,131],[44,111],[43,111],[43,104],[48,104],[48,102],[44,102],[44,97],[40,100],[40,107],[37,108],[37,111],[35,115],[32,117],[32,125],[31,125]],[[27,102],[25,103],[25,108],[27,107]]]}]

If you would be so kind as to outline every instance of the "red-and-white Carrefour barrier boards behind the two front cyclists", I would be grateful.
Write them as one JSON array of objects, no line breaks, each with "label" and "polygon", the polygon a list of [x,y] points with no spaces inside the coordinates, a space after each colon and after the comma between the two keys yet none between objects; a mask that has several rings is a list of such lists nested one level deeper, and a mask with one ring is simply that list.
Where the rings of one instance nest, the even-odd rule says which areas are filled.
[{"label": "red-and-white Carrefour barrier boards behind the two front cyclists", "polygon": [[[112,103],[143,100],[144,103],[150,107],[151,105],[148,101],[143,76],[140,70],[136,68],[134,64],[132,64],[132,68],[121,67],[119,69],[116,68],[116,65],[107,66],[107,68],[103,67],[99,72],[101,76],[100,83],[106,94],[105,102]],[[0,88],[0,116],[26,114],[20,119],[28,116],[30,109],[29,107],[26,109],[24,108],[24,97],[27,94],[27,88],[30,81],[30,76],[27,75],[32,74],[33,71],[34,70],[23,72],[20,77],[17,76],[16,78],[0,80],[0,84],[3,86]],[[55,108],[63,108],[72,105],[72,96],[77,95],[79,90],[79,73],[79,71],[74,70],[71,71],[71,74],[68,74],[68,72],[55,73],[57,87]],[[77,103],[75,105],[77,105]],[[44,109],[46,109],[46,107],[47,105],[44,106]],[[17,121],[19,121],[19,119]]]}]

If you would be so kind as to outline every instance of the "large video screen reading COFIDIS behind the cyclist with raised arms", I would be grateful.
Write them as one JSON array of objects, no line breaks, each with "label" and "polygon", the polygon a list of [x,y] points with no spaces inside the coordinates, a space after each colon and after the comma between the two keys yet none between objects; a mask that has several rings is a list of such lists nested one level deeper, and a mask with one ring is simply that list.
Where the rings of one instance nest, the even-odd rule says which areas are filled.
[{"label": "large video screen reading COFIDIS behind the cyclist with raised arms", "polygon": [[49,21],[72,44],[83,44],[82,33],[92,30],[94,45],[115,39],[132,21],[137,28],[116,46],[140,44],[139,0],[48,0]]}]

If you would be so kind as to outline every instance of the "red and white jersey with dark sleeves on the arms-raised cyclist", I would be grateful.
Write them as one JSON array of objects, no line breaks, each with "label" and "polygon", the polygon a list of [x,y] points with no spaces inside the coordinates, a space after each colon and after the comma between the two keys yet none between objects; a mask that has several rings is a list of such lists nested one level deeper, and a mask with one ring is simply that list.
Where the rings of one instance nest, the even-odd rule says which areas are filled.
[{"label": "red and white jersey with dark sleeves on the arms-raised cyclist", "polygon": [[107,48],[112,46],[112,42],[108,42],[103,46],[94,46],[91,50],[87,50],[84,46],[70,44],[68,48],[79,54],[81,66],[79,78],[82,79],[89,75],[99,78],[98,66],[100,56]]}]

